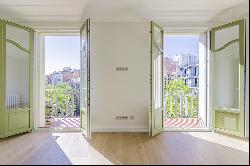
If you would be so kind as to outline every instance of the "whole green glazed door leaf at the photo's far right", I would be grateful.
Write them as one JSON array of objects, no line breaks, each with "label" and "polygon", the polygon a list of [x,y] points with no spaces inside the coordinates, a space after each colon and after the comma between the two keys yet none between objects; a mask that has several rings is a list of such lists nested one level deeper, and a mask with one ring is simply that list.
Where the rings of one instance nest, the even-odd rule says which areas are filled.
[{"label": "whole green glazed door leaf at the photo's far right", "polygon": [[245,20],[211,30],[212,128],[245,137]]}]

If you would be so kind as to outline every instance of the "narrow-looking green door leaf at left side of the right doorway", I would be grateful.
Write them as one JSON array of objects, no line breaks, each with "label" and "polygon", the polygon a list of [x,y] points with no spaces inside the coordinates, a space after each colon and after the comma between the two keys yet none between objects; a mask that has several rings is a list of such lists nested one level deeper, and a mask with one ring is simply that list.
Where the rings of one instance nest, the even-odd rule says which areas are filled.
[{"label": "narrow-looking green door leaf at left side of the right doorway", "polygon": [[164,30],[151,22],[151,104],[149,135],[154,136],[164,127],[163,108],[163,35]]}]

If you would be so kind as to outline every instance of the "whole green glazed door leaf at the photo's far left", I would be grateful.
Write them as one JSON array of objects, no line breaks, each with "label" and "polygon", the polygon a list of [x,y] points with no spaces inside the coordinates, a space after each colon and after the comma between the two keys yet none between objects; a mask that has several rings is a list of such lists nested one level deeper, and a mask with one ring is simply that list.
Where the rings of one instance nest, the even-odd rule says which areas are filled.
[{"label": "whole green glazed door leaf at the photo's far left", "polygon": [[33,130],[34,30],[0,20],[0,138]]}]

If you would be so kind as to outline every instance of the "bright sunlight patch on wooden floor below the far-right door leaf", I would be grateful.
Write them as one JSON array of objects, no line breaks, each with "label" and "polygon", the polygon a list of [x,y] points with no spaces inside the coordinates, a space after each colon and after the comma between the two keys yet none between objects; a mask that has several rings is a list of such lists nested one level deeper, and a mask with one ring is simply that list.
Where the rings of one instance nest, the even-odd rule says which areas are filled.
[{"label": "bright sunlight patch on wooden floor below the far-right door leaf", "polygon": [[215,132],[183,132],[183,134],[249,153],[249,140],[234,138]]}]

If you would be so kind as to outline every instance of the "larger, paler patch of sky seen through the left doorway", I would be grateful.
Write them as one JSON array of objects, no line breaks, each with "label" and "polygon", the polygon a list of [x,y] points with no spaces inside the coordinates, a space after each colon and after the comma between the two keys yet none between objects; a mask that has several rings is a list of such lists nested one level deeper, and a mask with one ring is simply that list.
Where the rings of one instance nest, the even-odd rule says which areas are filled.
[{"label": "larger, paler patch of sky seen through the left doorway", "polygon": [[66,66],[80,68],[80,37],[46,36],[45,74],[62,70]]}]

